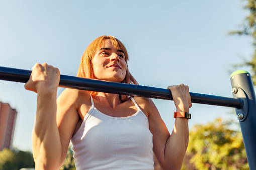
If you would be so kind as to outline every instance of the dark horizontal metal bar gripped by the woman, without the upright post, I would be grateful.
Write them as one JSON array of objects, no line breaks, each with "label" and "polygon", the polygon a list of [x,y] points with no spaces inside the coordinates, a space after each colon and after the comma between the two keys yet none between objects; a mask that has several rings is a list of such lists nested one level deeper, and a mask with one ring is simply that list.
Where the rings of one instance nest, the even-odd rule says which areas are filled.
[{"label": "dark horizontal metal bar gripped by the woman, without the upright post", "polygon": [[[0,79],[26,83],[31,71],[0,67]],[[147,87],[140,85],[108,82],[95,79],[86,79],[74,76],[60,75],[59,87],[75,88],[80,90],[97,91],[130,96],[142,96],[148,98],[173,100],[172,93],[167,89]],[[190,93],[193,103],[241,108],[243,100],[239,98],[221,97],[200,93]]]}]

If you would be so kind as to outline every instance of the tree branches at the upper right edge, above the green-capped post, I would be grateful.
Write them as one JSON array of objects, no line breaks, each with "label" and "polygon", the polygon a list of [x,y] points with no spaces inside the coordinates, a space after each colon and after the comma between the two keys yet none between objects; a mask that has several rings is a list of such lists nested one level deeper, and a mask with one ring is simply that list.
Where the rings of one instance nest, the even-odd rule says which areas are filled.
[{"label": "tree branches at the upper right edge, above the green-capped post", "polygon": [[250,61],[244,61],[243,64],[237,66],[249,66],[251,67],[251,78],[253,84],[256,84],[256,1],[246,0],[244,9],[249,11],[249,15],[244,19],[241,29],[238,31],[231,31],[231,35],[248,36],[252,39],[252,46],[254,53]]}]

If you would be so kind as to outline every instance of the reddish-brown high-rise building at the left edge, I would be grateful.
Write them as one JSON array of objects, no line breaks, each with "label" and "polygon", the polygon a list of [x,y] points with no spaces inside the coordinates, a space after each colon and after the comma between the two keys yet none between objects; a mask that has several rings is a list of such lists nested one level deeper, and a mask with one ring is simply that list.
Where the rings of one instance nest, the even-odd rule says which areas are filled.
[{"label": "reddish-brown high-rise building at the left edge", "polygon": [[12,148],[17,111],[8,103],[0,102],[0,150]]}]

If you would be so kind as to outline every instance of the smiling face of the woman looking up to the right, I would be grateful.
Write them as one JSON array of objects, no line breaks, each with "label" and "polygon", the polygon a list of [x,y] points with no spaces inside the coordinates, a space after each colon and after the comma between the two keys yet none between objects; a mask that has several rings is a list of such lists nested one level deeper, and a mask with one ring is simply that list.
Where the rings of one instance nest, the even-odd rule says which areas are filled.
[{"label": "smiling face of the woman looking up to the right", "polygon": [[110,39],[104,40],[92,63],[96,79],[121,82],[125,78],[127,63],[124,52],[116,49]]}]

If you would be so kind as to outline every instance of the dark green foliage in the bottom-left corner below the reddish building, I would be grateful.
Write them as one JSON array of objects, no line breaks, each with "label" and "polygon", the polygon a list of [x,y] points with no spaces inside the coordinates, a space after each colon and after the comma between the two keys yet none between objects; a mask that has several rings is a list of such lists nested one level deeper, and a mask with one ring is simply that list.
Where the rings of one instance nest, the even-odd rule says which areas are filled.
[{"label": "dark green foliage in the bottom-left corner below the reddish building", "polygon": [[31,152],[8,148],[0,151],[0,169],[19,170],[23,167],[35,167]]}]

